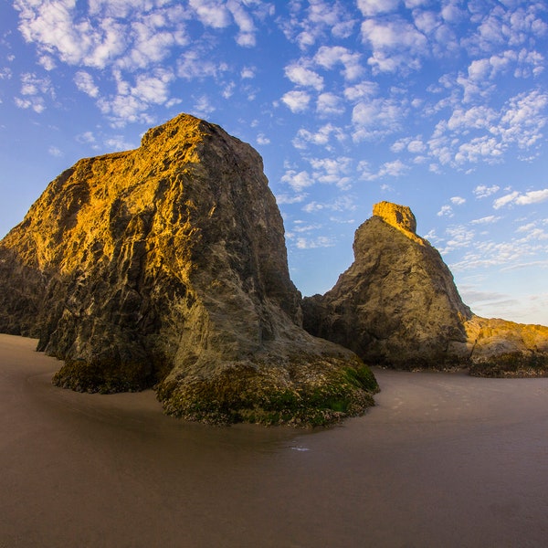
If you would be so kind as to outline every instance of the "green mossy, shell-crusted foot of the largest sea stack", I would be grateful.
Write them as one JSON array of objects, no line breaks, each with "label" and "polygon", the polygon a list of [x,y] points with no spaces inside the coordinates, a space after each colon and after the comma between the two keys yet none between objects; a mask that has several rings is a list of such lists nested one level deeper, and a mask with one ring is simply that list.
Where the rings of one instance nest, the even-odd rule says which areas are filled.
[{"label": "green mossy, shell-crusted foot of the largest sea stack", "polygon": [[268,366],[235,364],[205,378],[171,378],[158,386],[158,399],[168,415],[207,424],[318,427],[363,415],[377,391],[366,365],[326,359],[281,377]]}]

